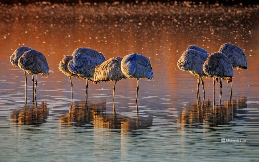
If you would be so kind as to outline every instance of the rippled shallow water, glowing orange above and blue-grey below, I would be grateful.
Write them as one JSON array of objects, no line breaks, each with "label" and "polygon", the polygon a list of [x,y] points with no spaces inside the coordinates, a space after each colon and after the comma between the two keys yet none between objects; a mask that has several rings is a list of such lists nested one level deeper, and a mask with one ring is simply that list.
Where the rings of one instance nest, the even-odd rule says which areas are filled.
[{"label": "rippled shallow water, glowing orange above and blue-grey below", "polygon": [[[170,3],[0,4],[1,161],[258,161],[259,6]],[[247,70],[234,70],[233,94],[212,80],[196,97],[196,78],[176,62],[190,44],[209,52],[230,42],[241,47]],[[49,77],[31,76],[9,58],[17,47],[42,52]],[[106,59],[137,52],[150,59],[154,79],[116,84],[69,78],[58,70],[77,47]],[[201,86],[200,86],[201,87]],[[26,97],[26,98],[25,98]],[[215,102],[215,104],[214,104]],[[137,109],[138,107],[138,113]],[[223,139],[225,138],[225,143]],[[234,140],[234,141],[229,141]]]}]

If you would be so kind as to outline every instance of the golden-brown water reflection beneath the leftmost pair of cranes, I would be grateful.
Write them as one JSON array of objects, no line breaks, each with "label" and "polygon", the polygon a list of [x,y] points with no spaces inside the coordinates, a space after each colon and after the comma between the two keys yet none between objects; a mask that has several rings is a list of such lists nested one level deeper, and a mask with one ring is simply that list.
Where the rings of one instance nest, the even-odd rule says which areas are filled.
[{"label": "golden-brown water reflection beneath the leftmost pair of cranes", "polygon": [[46,102],[38,105],[35,101],[34,104],[28,105],[25,100],[24,108],[11,113],[11,121],[19,125],[41,125],[46,122],[48,115]]}]

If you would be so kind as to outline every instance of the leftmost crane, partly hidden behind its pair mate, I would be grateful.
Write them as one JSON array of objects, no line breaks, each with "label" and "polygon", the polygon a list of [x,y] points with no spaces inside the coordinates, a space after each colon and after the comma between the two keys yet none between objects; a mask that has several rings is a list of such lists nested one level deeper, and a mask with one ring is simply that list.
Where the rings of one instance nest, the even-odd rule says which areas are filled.
[{"label": "leftmost crane, partly hidden behind its pair mate", "polygon": [[[10,62],[12,65],[14,65],[15,67],[19,67],[18,66],[18,60],[19,58],[24,54],[24,52],[31,50],[32,48],[30,47],[18,47],[14,53],[11,55],[10,57]],[[27,92],[27,76],[26,76],[26,71],[24,71],[24,77],[25,77],[25,94]]]}]

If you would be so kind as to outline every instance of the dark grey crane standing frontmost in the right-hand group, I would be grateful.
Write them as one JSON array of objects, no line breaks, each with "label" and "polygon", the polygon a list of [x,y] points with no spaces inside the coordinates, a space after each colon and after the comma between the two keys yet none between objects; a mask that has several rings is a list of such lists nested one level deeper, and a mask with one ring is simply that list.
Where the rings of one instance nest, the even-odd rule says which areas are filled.
[{"label": "dark grey crane standing frontmost in the right-hand group", "polygon": [[203,71],[206,75],[220,79],[220,100],[222,95],[222,79],[227,82],[233,80],[233,68],[230,59],[221,52],[215,52],[208,56],[204,62]]}]

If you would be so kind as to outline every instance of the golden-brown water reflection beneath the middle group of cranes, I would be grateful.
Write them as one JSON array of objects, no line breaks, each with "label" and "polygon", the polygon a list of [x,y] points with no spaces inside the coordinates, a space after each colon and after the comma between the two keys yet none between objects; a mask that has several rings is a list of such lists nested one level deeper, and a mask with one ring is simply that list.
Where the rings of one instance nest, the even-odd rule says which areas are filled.
[{"label": "golden-brown water reflection beneath the middle group of cranes", "polygon": [[[114,104],[113,104],[114,109]],[[69,113],[59,117],[60,125],[94,127],[94,129],[146,129],[152,123],[151,117],[136,118],[106,111],[106,102],[79,101],[71,103]]]}]

